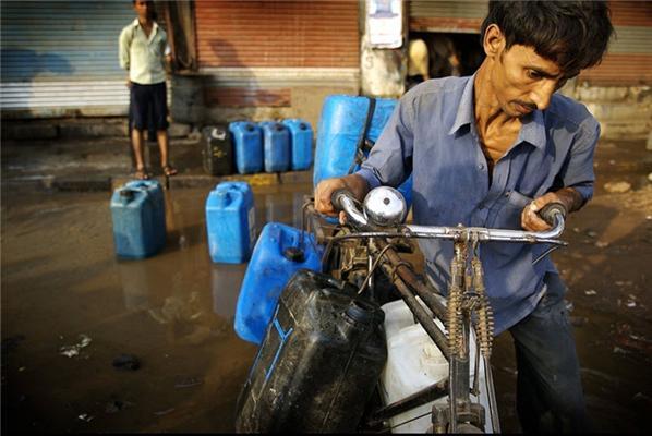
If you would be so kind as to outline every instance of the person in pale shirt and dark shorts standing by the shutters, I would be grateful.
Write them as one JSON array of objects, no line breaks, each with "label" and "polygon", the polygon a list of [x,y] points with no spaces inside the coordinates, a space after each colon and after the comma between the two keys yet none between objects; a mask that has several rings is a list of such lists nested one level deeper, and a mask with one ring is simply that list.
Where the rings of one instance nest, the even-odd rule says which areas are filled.
[{"label": "person in pale shirt and dark shorts standing by the shutters", "polygon": [[[166,32],[154,21],[154,2],[134,0],[137,19],[120,34],[120,66],[129,71],[130,117],[133,121],[132,145],[136,161],[136,179],[148,179],[143,158],[143,132],[156,130],[160,165],[165,175],[177,170],[168,161],[168,106],[166,62],[171,62]],[[149,125],[152,123],[153,125]]]}]

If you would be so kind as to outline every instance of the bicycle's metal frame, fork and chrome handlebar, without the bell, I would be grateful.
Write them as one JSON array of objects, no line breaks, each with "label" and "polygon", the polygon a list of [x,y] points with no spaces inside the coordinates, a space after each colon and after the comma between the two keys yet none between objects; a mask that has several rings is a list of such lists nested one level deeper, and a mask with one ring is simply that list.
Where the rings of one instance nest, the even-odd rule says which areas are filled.
[{"label": "bicycle's metal frame, fork and chrome handlebar, without the bell", "polygon": [[[369,256],[366,278],[360,287],[360,292],[364,291],[365,288],[373,289],[372,277],[374,270],[379,266],[385,276],[396,287],[419,324],[449,363],[447,379],[376,410],[367,421],[367,425],[377,426],[407,410],[448,396],[447,408],[436,404],[433,407],[432,429],[434,433],[462,432],[468,429],[469,425],[484,431],[487,423],[486,414],[488,414],[491,429],[499,433],[500,426],[490,365],[493,315],[484,292],[483,271],[478,256],[478,245],[486,241],[566,245],[557,239],[564,230],[565,214],[553,213],[550,219],[554,221],[555,226],[546,232],[466,228],[461,226],[435,228],[413,225],[401,225],[394,229],[378,229],[370,225],[365,214],[358,209],[351,197],[342,196],[340,197],[341,209],[347,213],[349,222],[351,222],[354,230],[348,234],[329,235],[327,234],[328,231],[334,233],[338,228],[326,229],[317,218],[318,214],[314,210],[312,201],[309,199],[307,202],[310,203],[304,205],[304,227],[305,213],[307,211],[311,217],[316,218],[312,219],[311,227],[315,231],[317,241],[327,245],[324,259],[328,258],[335,244],[351,239],[360,240],[362,242],[360,245],[365,246]],[[442,295],[442,292],[434,289],[430,283],[426,284],[420,280],[412,267],[401,259],[394,250],[393,243],[388,241],[390,238],[435,238],[452,241],[455,255],[451,263],[451,283],[447,305],[442,304],[434,295],[434,293]],[[539,259],[551,251],[544,253]],[[470,268],[468,268],[469,259],[471,261]],[[535,262],[539,262],[539,259]],[[467,274],[468,269],[471,270],[470,274]],[[432,314],[423,307],[416,296],[421,299]],[[473,318],[474,314],[476,316],[475,320]],[[437,326],[433,316],[443,322],[447,332]],[[476,335],[472,335],[474,327],[478,330]],[[473,386],[471,386],[471,362],[469,356],[470,341],[473,336],[475,336],[478,348],[474,362],[474,380]],[[482,362],[480,362],[480,354],[482,354]],[[486,377],[485,390],[488,397],[488,410],[486,411],[483,405],[471,400],[471,393],[479,397],[480,365],[482,365],[482,371]]]}]

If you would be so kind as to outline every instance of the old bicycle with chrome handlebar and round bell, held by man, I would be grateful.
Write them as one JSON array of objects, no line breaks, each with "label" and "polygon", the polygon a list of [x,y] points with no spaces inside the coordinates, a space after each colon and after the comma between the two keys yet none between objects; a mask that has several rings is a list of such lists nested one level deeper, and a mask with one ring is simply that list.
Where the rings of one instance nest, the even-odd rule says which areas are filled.
[{"label": "old bicycle with chrome handlebar and round bell, held by man", "polygon": [[[331,203],[337,210],[345,211],[347,225],[323,225],[310,201],[304,205],[304,218],[306,215],[311,217],[317,242],[326,245],[324,271],[354,283],[359,293],[367,291],[374,299],[374,277],[379,268],[446,358],[449,368],[446,379],[373,410],[362,423],[362,428],[391,429],[387,424],[389,420],[435,401],[428,413],[432,415],[428,431],[433,433],[499,433],[490,365],[493,314],[484,289],[479,245],[490,241],[552,244],[550,250],[534,261],[536,263],[553,250],[566,245],[558,239],[564,231],[565,207],[558,203],[546,205],[540,216],[552,229],[531,232],[461,225],[403,225],[406,202],[398,191],[387,186],[372,190],[364,199],[362,210],[359,202],[347,191],[333,193]],[[413,267],[398,254],[409,251],[410,245],[406,241],[420,238],[449,240],[454,243],[451,279],[445,303],[440,299],[443,293],[432,283],[421,280]],[[470,351],[473,347],[475,359],[471,375]],[[481,374],[484,374],[485,382],[482,387]],[[481,401],[482,393],[484,401]],[[473,400],[471,396],[478,400]],[[446,401],[443,402],[444,400]],[[423,416],[415,419],[419,417]],[[393,428],[406,423],[394,425]]]}]

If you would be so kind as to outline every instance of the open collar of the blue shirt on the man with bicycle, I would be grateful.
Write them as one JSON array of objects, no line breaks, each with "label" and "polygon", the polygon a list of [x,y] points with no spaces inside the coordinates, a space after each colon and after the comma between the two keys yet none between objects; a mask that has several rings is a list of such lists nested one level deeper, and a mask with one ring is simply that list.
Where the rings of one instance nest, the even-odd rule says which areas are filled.
[{"label": "open collar of the blue shirt on the man with bicycle", "polygon": [[[460,128],[475,122],[475,114],[473,112],[473,83],[475,82],[475,74],[469,77],[455,117],[455,122],[448,131],[449,135],[455,134]],[[527,117],[521,119],[522,126],[519,132],[519,140],[517,143],[527,141],[538,148],[545,147],[545,124],[544,117],[541,110],[534,110]]]}]

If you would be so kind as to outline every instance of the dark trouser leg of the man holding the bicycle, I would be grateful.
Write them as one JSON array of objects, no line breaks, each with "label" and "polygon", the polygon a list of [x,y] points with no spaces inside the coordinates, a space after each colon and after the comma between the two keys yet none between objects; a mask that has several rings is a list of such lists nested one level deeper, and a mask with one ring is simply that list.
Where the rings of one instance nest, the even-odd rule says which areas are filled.
[{"label": "dark trouser leg of the man holding the bicycle", "polygon": [[580,367],[556,274],[534,312],[509,329],[517,353],[517,411],[526,433],[588,432]]}]

